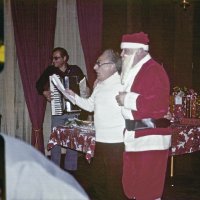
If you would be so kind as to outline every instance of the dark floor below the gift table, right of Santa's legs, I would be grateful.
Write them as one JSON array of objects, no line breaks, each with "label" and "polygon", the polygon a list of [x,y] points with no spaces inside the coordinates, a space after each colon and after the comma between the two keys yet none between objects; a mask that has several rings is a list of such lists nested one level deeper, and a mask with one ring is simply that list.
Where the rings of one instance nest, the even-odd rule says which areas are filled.
[{"label": "dark floor below the gift table, right of Santa's legs", "polygon": [[175,156],[173,178],[169,160],[163,200],[200,200],[200,152]]}]

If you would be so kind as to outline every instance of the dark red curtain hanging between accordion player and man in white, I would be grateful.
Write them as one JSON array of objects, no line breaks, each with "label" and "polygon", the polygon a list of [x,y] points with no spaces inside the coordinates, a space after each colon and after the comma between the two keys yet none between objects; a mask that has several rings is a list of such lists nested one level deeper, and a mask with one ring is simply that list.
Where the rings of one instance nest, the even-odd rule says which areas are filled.
[{"label": "dark red curtain hanging between accordion player and man in white", "polygon": [[92,86],[96,79],[94,63],[101,53],[103,1],[77,0],[77,13],[88,81]]}]

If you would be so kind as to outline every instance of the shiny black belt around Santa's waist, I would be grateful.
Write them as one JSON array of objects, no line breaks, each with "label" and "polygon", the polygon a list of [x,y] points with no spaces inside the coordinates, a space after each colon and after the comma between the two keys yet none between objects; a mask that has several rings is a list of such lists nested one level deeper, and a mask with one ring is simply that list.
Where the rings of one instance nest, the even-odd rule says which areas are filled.
[{"label": "shiny black belt around Santa's waist", "polygon": [[170,120],[165,118],[160,118],[160,119],[145,118],[141,120],[126,119],[125,123],[126,123],[126,129],[128,131],[136,131],[149,128],[167,128],[170,126]]}]

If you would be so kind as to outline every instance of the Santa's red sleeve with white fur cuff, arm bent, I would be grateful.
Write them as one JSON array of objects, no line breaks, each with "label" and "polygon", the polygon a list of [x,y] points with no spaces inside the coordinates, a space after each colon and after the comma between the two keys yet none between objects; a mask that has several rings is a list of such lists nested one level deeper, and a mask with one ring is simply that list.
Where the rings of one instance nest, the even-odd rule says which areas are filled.
[{"label": "Santa's red sleeve with white fur cuff, arm bent", "polygon": [[131,92],[125,96],[125,108],[143,113],[160,112],[168,108],[169,80],[162,67],[152,67],[142,73],[134,84]]}]

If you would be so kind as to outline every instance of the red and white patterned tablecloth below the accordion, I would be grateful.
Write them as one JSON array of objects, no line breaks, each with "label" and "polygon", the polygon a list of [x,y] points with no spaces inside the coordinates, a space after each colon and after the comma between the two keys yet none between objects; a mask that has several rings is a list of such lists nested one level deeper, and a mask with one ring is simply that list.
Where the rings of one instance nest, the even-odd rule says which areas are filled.
[{"label": "red and white patterned tablecloth below the accordion", "polygon": [[90,162],[94,157],[95,131],[79,127],[54,127],[47,144],[47,150],[51,150],[55,145],[74,149],[86,154],[85,158]]}]

